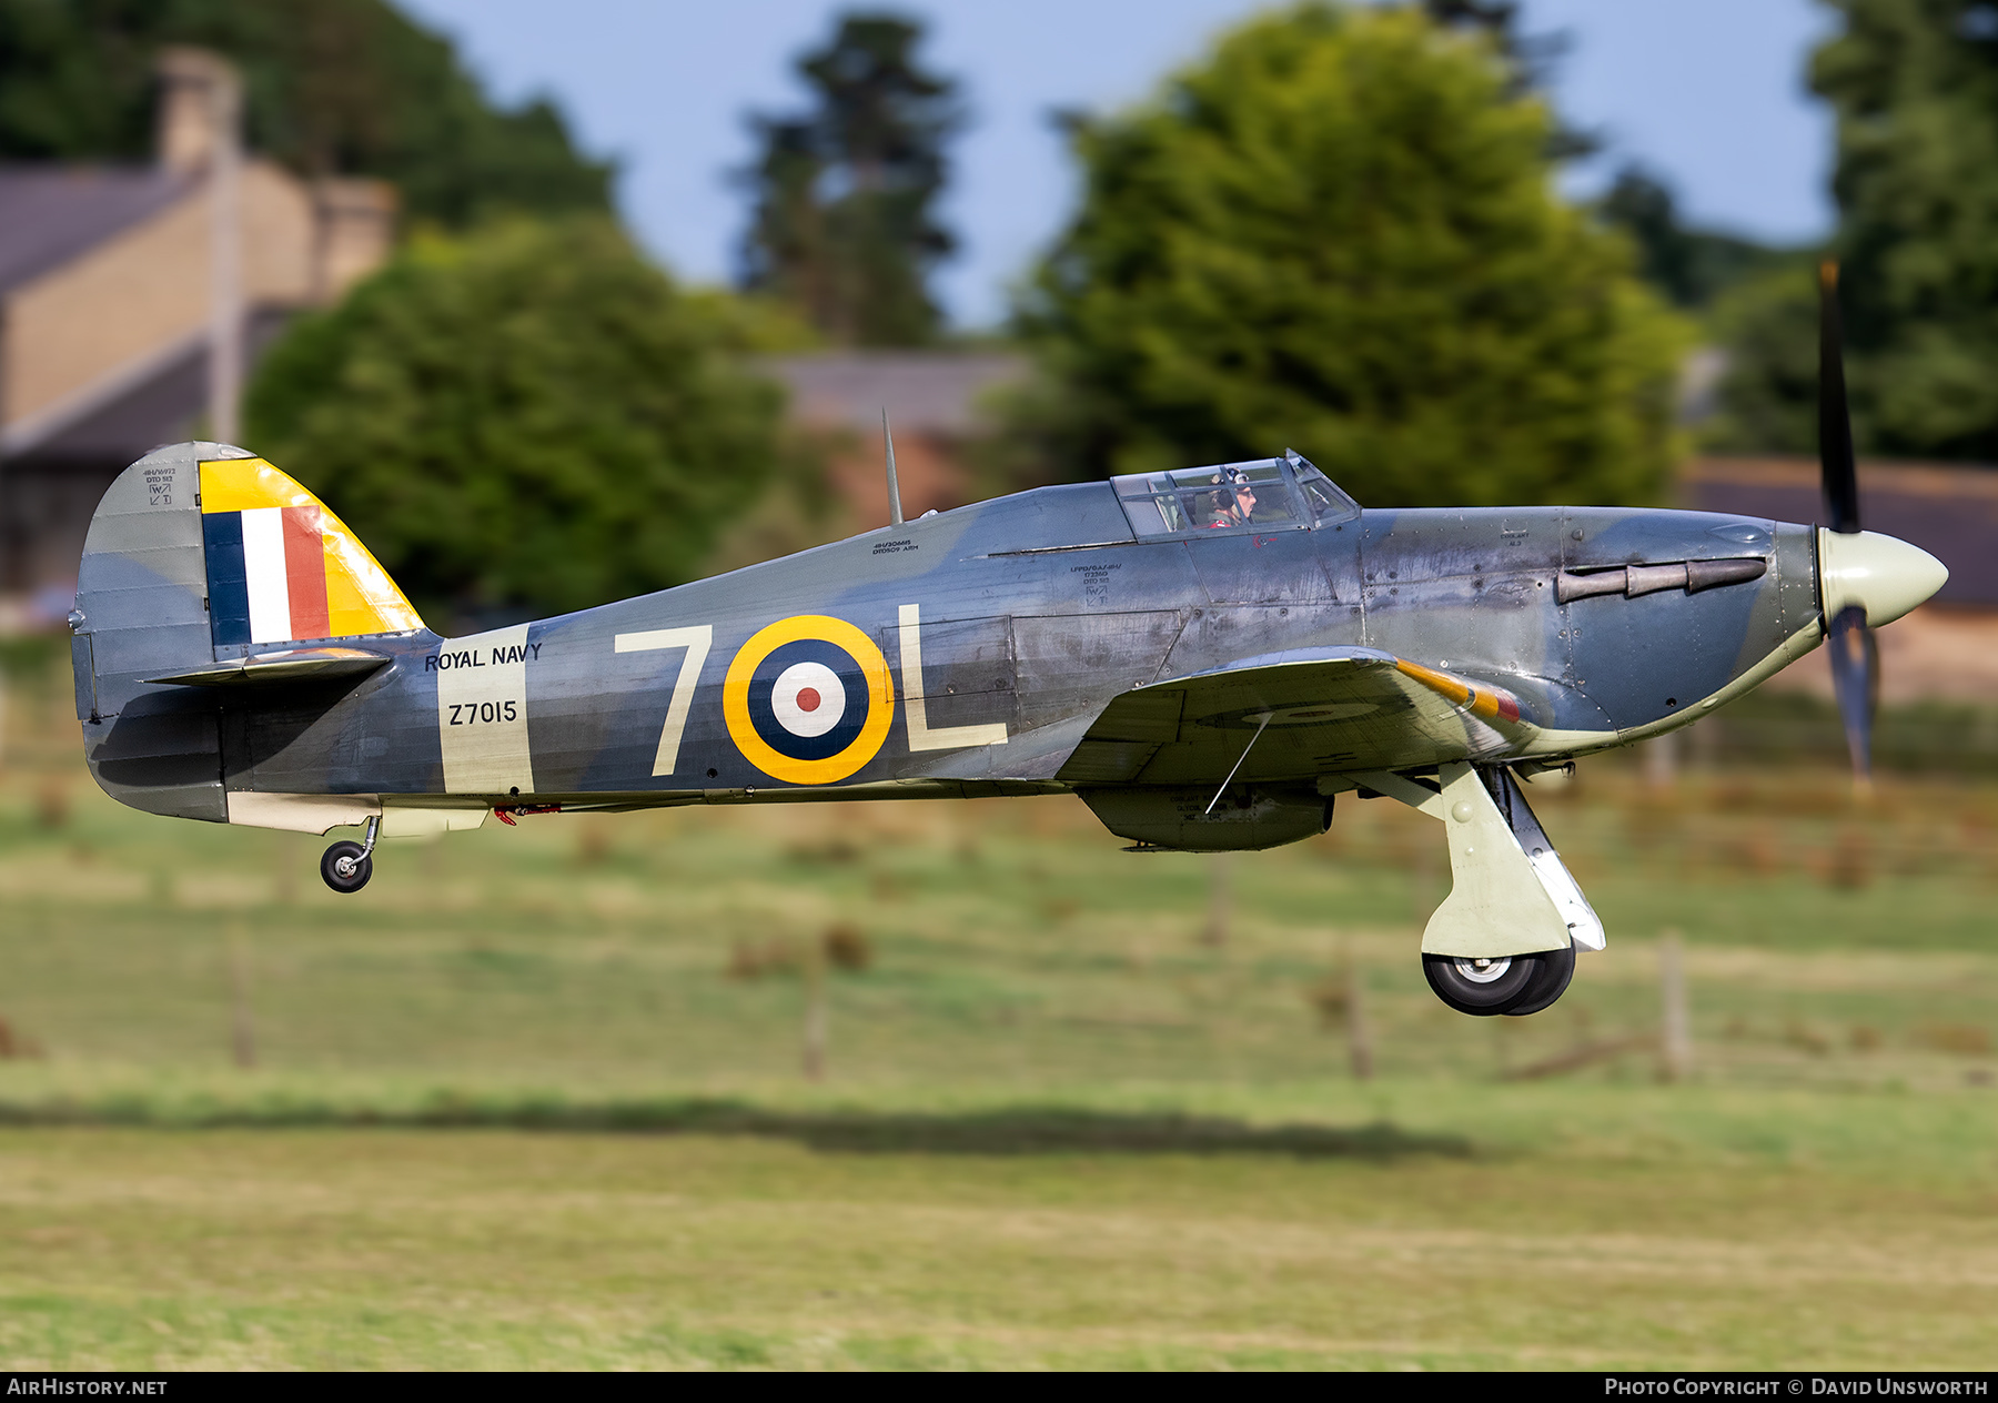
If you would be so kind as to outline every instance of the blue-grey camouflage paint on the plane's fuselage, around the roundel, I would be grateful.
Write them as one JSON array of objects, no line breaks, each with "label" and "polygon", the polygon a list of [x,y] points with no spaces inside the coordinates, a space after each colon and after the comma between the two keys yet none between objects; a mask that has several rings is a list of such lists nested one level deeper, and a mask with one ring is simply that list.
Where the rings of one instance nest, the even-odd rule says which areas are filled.
[{"label": "blue-grey camouflage paint on the plane's fuselage, around the roundel", "polygon": [[[1636,508],[1371,510],[1309,530],[1137,540],[1109,484],[1075,484],[503,630],[503,640],[342,640],[390,664],[360,682],[224,694],[144,680],[212,656],[188,546],[198,552],[198,534],[162,566],[130,534],[106,532],[96,558],[86,554],[76,628],[98,650],[94,676],[78,676],[78,711],[110,793],[206,819],[226,817],[226,793],[244,789],[607,807],[1061,791],[1071,787],[1057,777],[1063,761],[1117,694],[1337,646],[1497,682],[1580,753],[1692,719],[1696,702],[1818,620],[1808,526]],[[1768,570],[1698,594],[1554,598],[1562,570],[1712,558],[1760,558]],[[909,606],[919,682],[905,676]],[[124,618],[134,612],[148,614]],[[891,723],[851,773],[799,783],[751,763],[723,692],[753,636],[799,618],[809,632],[821,616],[879,650]],[[106,628],[124,630],[116,638],[136,660],[108,666]],[[617,642],[665,630],[709,638],[691,680],[681,678],[687,648]],[[78,670],[90,658],[78,648]],[[667,755],[661,727],[681,682],[691,696]],[[907,705],[915,688],[919,731]],[[464,741],[478,763],[460,755],[460,775],[517,773],[531,787],[448,791],[446,745],[462,743],[454,717],[494,727],[490,741]],[[949,743],[991,727],[1005,729],[1003,743]],[[667,759],[671,769],[653,773]]]}]

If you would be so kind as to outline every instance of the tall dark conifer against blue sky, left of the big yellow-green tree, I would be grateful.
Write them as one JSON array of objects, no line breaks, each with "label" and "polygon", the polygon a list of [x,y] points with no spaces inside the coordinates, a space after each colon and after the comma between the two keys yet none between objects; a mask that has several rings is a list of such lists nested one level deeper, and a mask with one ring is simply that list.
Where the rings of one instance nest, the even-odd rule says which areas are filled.
[{"label": "tall dark conifer against blue sky, left of the big yellow-green tree", "polygon": [[755,196],[743,282],[839,342],[937,334],[927,278],[955,240],[931,206],[961,114],[955,84],[917,66],[921,36],[909,20],[847,14],[831,44],[797,60],[817,106],[751,118],[763,154],[743,172]]}]

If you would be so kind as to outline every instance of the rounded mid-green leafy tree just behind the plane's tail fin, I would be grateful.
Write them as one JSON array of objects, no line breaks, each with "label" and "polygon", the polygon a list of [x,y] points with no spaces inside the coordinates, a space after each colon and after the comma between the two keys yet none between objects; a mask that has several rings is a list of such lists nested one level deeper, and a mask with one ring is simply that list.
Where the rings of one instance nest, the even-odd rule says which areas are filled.
[{"label": "rounded mid-green leafy tree just behind the plane's tail fin", "polygon": [[609,220],[420,238],[270,352],[248,442],[420,608],[587,608],[693,578],[779,466],[741,328]]}]

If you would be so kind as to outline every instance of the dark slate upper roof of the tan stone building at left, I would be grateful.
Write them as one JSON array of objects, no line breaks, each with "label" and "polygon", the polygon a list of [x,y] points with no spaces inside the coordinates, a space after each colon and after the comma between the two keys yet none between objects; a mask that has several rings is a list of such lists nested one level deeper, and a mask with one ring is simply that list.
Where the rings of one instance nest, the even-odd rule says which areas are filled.
[{"label": "dark slate upper roof of the tan stone building at left", "polygon": [[190,180],[156,166],[0,166],[0,292],[158,214]]}]

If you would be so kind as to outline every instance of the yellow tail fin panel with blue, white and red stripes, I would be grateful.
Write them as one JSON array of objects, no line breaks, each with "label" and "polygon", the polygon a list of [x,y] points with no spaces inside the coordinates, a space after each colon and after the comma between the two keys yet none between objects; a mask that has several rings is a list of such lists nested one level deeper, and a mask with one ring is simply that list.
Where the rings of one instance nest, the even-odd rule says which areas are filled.
[{"label": "yellow tail fin panel with blue, white and red stripes", "polygon": [[360,538],[262,458],[202,464],[202,544],[216,646],[424,628]]}]

